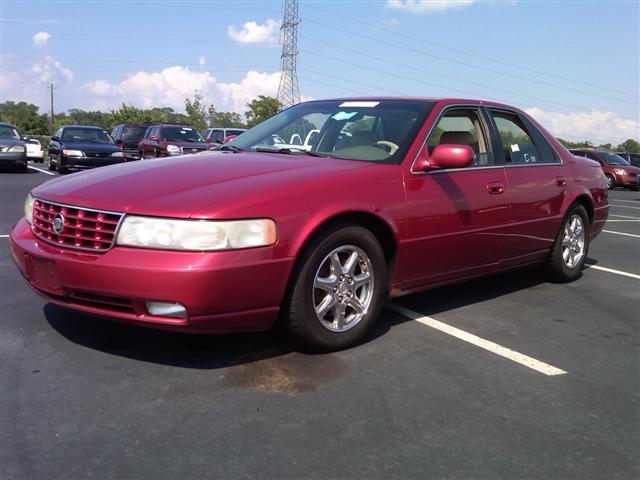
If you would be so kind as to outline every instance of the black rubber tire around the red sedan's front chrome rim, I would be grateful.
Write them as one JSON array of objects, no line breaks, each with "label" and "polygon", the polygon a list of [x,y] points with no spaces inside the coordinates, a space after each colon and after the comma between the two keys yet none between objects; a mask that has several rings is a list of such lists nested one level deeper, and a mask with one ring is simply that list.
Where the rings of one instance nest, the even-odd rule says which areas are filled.
[{"label": "black rubber tire around the red sedan's front chrome rim", "polygon": [[[344,246],[355,246],[366,254],[373,270],[373,288],[369,308],[362,318],[346,331],[333,332],[323,326],[316,316],[313,285],[316,273],[327,256]],[[356,225],[333,227],[316,236],[296,264],[283,302],[284,326],[293,340],[305,350],[320,352],[350,347],[365,337],[379,317],[386,290],[387,263],[373,233]],[[354,293],[357,295],[355,289]]]}]

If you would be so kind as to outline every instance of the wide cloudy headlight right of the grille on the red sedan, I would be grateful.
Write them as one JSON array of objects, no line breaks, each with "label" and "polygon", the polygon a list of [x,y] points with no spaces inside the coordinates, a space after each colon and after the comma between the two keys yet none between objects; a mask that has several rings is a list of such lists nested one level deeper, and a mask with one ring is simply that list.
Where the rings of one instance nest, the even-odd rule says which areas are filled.
[{"label": "wide cloudy headlight right of the grille on the red sedan", "polygon": [[167,250],[230,250],[276,243],[276,224],[256,220],[173,220],[126,216],[116,243]]}]

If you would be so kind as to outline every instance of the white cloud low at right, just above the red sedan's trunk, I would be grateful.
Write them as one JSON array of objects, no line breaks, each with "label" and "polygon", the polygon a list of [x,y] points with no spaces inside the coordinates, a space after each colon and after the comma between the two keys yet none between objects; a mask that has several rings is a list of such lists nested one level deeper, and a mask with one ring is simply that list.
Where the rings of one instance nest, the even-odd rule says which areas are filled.
[{"label": "white cloud low at right, just above the red sedan's trunk", "polygon": [[640,122],[613,112],[554,112],[529,108],[526,112],[549,132],[565,140],[590,140],[595,144],[617,145],[628,138],[640,138]]}]

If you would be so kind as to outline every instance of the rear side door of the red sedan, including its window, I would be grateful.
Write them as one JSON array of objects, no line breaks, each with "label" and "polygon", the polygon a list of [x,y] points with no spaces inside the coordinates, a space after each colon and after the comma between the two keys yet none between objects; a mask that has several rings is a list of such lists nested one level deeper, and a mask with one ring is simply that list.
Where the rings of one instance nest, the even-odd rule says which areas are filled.
[{"label": "rear side door of the red sedan, including its window", "polygon": [[509,191],[510,228],[503,248],[512,261],[534,260],[549,251],[560,228],[567,168],[526,116],[497,108],[488,112],[500,138]]}]

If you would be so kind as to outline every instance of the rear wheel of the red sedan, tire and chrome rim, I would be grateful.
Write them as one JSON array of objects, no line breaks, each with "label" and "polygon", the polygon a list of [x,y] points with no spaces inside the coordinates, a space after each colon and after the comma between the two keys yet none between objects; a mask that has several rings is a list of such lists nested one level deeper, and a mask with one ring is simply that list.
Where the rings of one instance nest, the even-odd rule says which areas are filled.
[{"label": "rear wheel of the red sedan, tire and chrome rim", "polygon": [[547,271],[557,282],[571,282],[580,276],[589,251],[589,217],[582,205],[572,207],[547,260]]}]

